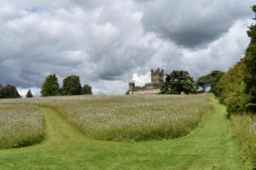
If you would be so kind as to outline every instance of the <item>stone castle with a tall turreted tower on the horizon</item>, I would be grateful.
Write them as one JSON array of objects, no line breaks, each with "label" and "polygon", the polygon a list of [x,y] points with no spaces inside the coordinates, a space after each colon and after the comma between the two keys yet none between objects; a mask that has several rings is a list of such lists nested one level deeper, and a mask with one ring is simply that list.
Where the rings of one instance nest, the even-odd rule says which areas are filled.
[{"label": "stone castle with a tall turreted tower on the horizon", "polygon": [[136,87],[134,82],[129,82],[129,95],[141,94],[159,94],[160,88],[164,83],[164,70],[158,68],[151,70],[151,82],[146,83],[143,87]]}]

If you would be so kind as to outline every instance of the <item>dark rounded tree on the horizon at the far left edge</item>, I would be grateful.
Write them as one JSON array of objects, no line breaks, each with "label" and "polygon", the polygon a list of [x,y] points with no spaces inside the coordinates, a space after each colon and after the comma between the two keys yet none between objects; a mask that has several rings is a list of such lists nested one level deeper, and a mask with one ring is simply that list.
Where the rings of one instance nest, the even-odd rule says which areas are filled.
[{"label": "dark rounded tree on the horizon at the far left edge", "polygon": [[20,98],[20,94],[15,86],[10,84],[0,89],[0,99],[14,99]]}]

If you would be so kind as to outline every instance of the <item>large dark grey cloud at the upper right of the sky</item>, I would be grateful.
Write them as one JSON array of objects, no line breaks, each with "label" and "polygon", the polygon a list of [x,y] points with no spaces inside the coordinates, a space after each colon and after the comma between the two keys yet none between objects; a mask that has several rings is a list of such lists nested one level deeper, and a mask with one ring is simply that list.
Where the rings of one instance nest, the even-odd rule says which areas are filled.
[{"label": "large dark grey cloud at the upper right of the sky", "polygon": [[144,6],[145,31],[185,48],[201,48],[229,31],[236,20],[251,17],[244,0],[155,0]]}]

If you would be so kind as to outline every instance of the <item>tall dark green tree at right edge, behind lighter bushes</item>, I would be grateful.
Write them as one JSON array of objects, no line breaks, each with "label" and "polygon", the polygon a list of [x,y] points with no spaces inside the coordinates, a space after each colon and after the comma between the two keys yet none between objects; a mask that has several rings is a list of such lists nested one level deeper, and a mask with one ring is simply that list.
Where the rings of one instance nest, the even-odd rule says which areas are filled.
[{"label": "tall dark green tree at right edge, behind lighter bushes", "polygon": [[[256,5],[253,5],[253,12],[256,14]],[[247,35],[251,41],[246,51],[244,81],[246,93],[250,95],[249,110],[256,112],[256,24],[249,27]]]}]

